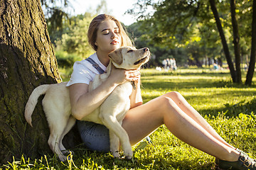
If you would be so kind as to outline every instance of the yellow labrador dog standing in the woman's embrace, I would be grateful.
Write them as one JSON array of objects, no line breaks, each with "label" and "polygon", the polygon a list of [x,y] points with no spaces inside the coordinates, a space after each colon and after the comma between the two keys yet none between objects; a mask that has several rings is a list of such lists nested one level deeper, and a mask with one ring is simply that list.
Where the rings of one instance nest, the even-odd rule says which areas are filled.
[{"label": "yellow labrador dog standing in the woman's embrace", "polygon": [[[98,74],[89,84],[89,91],[100,86],[110,76],[112,67],[119,69],[139,69],[142,64],[149,61],[148,48],[135,49],[134,47],[121,47],[110,53],[110,64],[104,74]],[[31,115],[38,101],[38,97],[46,94],[43,98],[43,111],[46,113],[50,128],[48,145],[60,161],[65,161],[65,147],[63,137],[75,125],[70,107],[70,96],[67,82],[60,84],[44,84],[33,90],[28,98],[25,108],[26,121],[32,126]],[[110,151],[114,157],[119,157],[119,141],[127,159],[132,159],[132,147],[129,143],[127,132],[122,128],[124,115],[130,108],[129,96],[132,94],[132,83],[126,82],[117,86],[102,105],[95,109],[82,120],[105,125],[110,130]]]}]

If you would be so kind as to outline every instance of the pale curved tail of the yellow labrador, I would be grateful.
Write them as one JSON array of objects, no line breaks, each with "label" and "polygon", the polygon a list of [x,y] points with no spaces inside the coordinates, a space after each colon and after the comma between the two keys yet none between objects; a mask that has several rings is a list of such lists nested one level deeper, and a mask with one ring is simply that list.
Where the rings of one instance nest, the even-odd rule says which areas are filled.
[{"label": "pale curved tail of the yellow labrador", "polygon": [[25,115],[26,121],[31,126],[32,126],[31,115],[33,113],[33,110],[36,107],[36,103],[38,102],[38,98],[42,94],[46,94],[46,91],[48,90],[49,86],[50,86],[50,84],[43,84],[41,86],[36,87],[36,89],[34,89],[32,91],[31,96],[29,96],[29,98],[28,98],[28,102],[26,103],[24,115]]}]

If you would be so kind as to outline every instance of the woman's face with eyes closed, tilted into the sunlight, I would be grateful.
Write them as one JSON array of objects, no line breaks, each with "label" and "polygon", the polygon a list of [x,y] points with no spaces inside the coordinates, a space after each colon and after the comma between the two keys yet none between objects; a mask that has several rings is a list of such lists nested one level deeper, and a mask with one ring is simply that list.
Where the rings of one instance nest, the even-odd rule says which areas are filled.
[{"label": "woman's face with eyes closed, tilted into the sunlight", "polygon": [[95,45],[97,45],[97,51],[110,53],[113,50],[121,47],[122,38],[119,34],[119,28],[117,24],[112,20],[105,20],[100,23],[97,30],[97,38]]}]

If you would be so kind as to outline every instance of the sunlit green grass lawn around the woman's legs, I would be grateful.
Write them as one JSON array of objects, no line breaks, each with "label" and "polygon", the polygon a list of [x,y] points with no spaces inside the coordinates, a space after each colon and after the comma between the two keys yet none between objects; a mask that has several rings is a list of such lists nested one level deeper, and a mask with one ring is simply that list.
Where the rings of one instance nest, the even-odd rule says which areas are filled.
[{"label": "sunlit green grass lawn around the woman's legs", "polygon": [[[256,157],[255,85],[233,84],[227,70],[142,69],[144,103],[169,91],[180,92],[226,141]],[[214,157],[181,142],[164,125],[151,135],[151,140],[151,145],[141,142],[133,147],[131,161],[77,147],[69,162],[59,162],[53,154],[33,160],[24,156],[0,169],[211,169],[214,166]]]}]

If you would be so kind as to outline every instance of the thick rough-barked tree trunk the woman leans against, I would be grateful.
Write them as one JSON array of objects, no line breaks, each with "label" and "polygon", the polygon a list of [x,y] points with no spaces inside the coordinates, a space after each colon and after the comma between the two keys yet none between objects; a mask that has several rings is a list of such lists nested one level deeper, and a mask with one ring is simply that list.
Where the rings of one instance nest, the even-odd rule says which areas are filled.
[{"label": "thick rough-barked tree trunk the woman leans against", "polygon": [[23,116],[40,84],[60,82],[40,0],[0,0],[0,162],[51,153],[48,123],[39,101],[33,128]]}]

